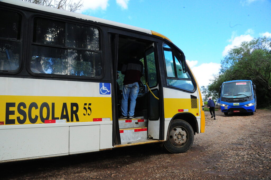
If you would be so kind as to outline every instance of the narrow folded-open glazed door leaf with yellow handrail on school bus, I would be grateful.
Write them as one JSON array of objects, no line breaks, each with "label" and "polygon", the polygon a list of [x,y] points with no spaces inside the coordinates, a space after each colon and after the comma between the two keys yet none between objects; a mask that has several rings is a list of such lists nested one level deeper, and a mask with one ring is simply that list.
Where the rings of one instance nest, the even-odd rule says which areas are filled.
[{"label": "narrow folded-open glazed door leaf with yellow handrail on school bus", "polygon": [[159,139],[160,132],[160,102],[159,81],[157,79],[156,54],[154,44],[144,51],[146,86],[148,91],[148,138]]}]

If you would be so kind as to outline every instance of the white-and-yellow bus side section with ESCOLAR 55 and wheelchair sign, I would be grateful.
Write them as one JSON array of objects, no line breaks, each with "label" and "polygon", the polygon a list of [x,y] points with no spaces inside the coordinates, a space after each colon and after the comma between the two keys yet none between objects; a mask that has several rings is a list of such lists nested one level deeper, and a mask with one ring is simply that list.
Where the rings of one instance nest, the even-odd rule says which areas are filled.
[{"label": "white-and-yellow bus side section with ESCOLAR 55 and wheelchair sign", "polygon": [[0,77],[0,84],[2,125],[112,120],[110,83]]}]

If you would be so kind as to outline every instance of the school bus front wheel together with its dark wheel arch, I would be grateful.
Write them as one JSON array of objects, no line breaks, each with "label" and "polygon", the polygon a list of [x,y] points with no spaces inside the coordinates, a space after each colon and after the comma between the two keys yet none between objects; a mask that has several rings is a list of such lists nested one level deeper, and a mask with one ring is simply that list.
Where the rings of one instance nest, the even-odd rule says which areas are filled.
[{"label": "school bus front wheel together with its dark wheel arch", "polygon": [[193,114],[177,114],[170,122],[164,147],[171,153],[184,153],[191,148],[196,132],[197,121]]}]

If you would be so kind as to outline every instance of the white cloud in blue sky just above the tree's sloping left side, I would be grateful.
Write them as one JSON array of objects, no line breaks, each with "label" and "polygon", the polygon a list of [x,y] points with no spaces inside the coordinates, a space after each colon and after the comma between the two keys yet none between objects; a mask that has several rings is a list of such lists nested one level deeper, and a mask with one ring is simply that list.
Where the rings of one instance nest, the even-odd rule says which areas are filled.
[{"label": "white cloud in blue sky just above the tree's sloping left side", "polygon": [[[251,32],[251,30],[248,30],[247,32]],[[241,44],[241,42],[243,41],[251,41],[253,39],[253,37],[250,34],[247,35],[240,35],[237,37],[235,36],[235,32],[233,32],[233,35],[231,36],[231,39],[228,40],[229,42],[231,42],[231,44],[227,45],[224,49],[224,51],[222,52],[222,56],[225,56],[228,54],[228,51],[230,51],[232,48],[234,48],[235,46],[239,46]]]}]

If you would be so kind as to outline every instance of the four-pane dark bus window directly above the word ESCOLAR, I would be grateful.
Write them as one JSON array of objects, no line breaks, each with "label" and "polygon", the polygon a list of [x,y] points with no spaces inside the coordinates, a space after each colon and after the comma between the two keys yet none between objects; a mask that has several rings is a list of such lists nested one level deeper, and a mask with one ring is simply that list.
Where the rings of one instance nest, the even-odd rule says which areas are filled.
[{"label": "four-pane dark bus window directly above the word ESCOLAR", "polygon": [[34,18],[31,59],[33,73],[100,77],[101,57],[97,28]]}]

